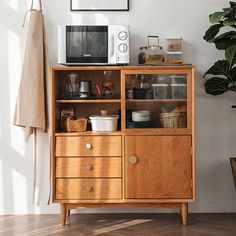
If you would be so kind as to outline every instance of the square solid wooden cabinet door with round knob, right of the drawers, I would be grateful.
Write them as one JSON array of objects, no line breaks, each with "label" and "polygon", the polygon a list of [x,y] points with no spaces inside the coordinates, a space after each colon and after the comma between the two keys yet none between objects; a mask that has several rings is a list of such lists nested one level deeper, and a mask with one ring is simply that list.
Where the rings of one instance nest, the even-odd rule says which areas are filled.
[{"label": "square solid wooden cabinet door with round knob, right of the drawers", "polygon": [[126,198],[192,198],[191,182],[191,136],[125,137]]}]

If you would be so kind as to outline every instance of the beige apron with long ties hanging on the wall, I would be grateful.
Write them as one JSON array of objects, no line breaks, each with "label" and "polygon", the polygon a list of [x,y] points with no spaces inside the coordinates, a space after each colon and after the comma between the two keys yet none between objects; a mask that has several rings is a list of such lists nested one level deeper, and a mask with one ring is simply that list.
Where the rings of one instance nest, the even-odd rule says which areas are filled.
[{"label": "beige apron with long ties hanging on the wall", "polygon": [[39,3],[40,10],[36,10],[33,8],[34,1],[32,0],[31,9],[26,13],[26,15],[30,13],[30,19],[14,116],[14,125],[25,128],[26,140],[34,134],[34,201],[38,195],[36,193],[38,179],[36,130],[46,131],[48,128],[49,104],[46,101],[50,101],[48,98],[50,67],[41,0]]}]

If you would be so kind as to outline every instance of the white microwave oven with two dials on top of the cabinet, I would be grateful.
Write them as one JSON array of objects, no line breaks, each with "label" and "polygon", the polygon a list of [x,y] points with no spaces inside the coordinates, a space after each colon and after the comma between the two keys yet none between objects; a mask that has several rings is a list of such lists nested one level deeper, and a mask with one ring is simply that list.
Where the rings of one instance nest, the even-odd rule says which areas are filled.
[{"label": "white microwave oven with two dials on top of the cabinet", "polygon": [[62,65],[129,64],[129,27],[59,25],[58,63]]}]

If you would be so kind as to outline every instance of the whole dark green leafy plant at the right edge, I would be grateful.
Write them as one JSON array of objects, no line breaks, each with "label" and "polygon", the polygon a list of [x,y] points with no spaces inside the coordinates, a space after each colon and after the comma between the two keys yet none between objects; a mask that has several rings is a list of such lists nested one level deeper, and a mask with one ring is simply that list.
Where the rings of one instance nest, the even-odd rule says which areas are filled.
[{"label": "whole dark green leafy plant at the right edge", "polygon": [[211,95],[236,92],[236,2],[230,1],[228,8],[211,14],[209,20],[212,25],[203,39],[224,50],[225,58],[205,73],[205,91]]}]

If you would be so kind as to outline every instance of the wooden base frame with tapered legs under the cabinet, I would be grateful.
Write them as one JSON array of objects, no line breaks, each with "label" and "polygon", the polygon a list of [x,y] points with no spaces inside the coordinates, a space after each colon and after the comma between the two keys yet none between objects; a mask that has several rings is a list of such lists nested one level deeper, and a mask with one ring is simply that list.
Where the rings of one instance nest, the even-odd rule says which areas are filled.
[{"label": "wooden base frame with tapered legs under the cabinet", "polygon": [[67,217],[70,217],[71,209],[83,209],[83,208],[116,208],[116,207],[154,207],[154,208],[176,208],[180,210],[182,217],[182,224],[187,225],[188,216],[188,203],[84,203],[84,204],[72,204],[72,203],[61,203],[61,224],[66,225]]}]

